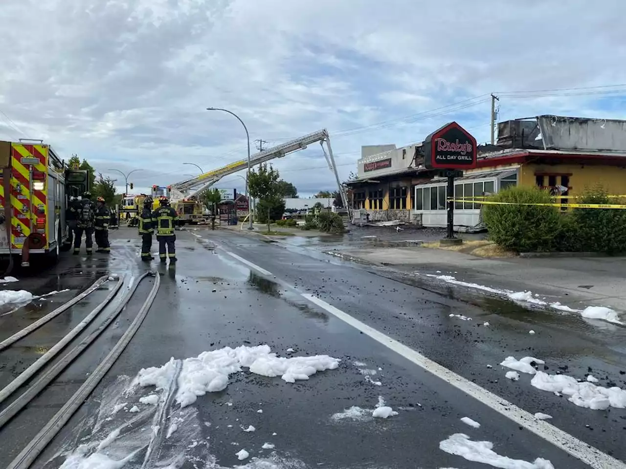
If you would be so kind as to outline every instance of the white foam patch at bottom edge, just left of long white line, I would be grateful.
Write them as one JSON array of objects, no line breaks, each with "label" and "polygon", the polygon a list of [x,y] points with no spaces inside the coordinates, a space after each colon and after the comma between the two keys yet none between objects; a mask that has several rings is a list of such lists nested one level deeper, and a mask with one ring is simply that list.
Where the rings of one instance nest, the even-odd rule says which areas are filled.
[{"label": "white foam patch at bottom edge, just left of long white line", "polygon": [[454,433],[439,443],[439,449],[451,455],[457,455],[468,461],[488,464],[501,469],[554,469],[550,461],[536,458],[532,463],[501,456],[493,451],[491,441],[472,441],[463,433]]}]

